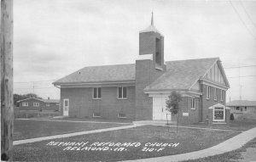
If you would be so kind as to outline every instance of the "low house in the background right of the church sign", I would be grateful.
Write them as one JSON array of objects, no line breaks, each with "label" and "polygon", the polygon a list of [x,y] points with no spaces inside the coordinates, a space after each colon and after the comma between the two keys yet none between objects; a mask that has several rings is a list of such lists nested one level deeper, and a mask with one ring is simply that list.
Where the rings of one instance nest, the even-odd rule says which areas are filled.
[{"label": "low house in the background right of the church sign", "polygon": [[234,100],[227,103],[230,113],[235,119],[254,119],[256,120],[256,101]]}]

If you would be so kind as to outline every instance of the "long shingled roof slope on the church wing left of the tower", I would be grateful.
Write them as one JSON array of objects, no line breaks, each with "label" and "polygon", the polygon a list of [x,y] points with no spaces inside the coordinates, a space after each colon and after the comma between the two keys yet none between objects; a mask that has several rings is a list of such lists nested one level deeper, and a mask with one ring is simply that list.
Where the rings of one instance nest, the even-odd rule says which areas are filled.
[{"label": "long shingled roof slope on the church wing left of the tower", "polygon": [[90,83],[104,81],[135,81],[135,64],[90,66],[67,75],[54,85],[63,83]]}]

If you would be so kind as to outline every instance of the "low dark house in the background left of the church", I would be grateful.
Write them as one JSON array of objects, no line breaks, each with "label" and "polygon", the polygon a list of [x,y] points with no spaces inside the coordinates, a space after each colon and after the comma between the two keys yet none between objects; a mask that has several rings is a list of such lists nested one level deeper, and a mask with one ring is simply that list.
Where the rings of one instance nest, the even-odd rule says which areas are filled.
[{"label": "low dark house in the background left of the church", "polygon": [[38,99],[26,98],[18,101],[20,110],[60,110],[60,100],[58,99]]}]

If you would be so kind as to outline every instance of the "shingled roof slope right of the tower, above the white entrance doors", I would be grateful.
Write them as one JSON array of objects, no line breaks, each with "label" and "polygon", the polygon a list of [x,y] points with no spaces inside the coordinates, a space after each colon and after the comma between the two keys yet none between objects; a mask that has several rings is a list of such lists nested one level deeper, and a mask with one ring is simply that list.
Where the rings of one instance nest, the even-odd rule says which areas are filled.
[{"label": "shingled roof slope right of the tower, above the white entrance doors", "polygon": [[217,61],[218,58],[168,61],[166,73],[144,90],[189,90]]}]

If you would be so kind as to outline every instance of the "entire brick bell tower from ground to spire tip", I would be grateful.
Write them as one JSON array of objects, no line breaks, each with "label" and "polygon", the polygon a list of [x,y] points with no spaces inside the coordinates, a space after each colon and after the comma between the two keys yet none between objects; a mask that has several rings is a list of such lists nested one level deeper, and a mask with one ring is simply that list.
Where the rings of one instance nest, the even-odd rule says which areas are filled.
[{"label": "entire brick bell tower from ground to spire tip", "polygon": [[153,98],[144,89],[166,72],[164,36],[151,25],[139,34],[139,55],[136,60],[135,119],[153,120]]}]

